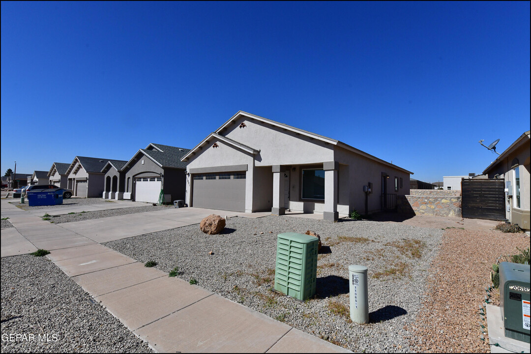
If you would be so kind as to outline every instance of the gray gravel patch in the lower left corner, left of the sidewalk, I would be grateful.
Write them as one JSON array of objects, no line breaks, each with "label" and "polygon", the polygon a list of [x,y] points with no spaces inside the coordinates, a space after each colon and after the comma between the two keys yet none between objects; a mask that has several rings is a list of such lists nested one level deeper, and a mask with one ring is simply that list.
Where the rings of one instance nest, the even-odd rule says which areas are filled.
[{"label": "gray gravel patch in the lower left corner, left of the sidewalk", "polygon": [[2,352],[152,352],[46,257],[5,257],[1,266]]}]

